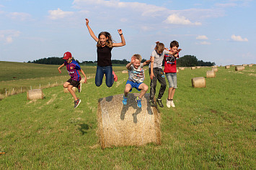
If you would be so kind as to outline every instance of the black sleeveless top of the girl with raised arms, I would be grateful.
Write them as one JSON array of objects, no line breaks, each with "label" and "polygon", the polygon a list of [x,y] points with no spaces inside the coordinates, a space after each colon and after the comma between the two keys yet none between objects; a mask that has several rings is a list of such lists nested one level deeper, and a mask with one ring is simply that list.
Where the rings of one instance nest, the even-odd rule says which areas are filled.
[{"label": "black sleeveless top of the girl with raised arms", "polygon": [[111,50],[112,48],[107,47],[107,45],[104,47],[97,47],[97,65],[102,67],[112,65]]}]

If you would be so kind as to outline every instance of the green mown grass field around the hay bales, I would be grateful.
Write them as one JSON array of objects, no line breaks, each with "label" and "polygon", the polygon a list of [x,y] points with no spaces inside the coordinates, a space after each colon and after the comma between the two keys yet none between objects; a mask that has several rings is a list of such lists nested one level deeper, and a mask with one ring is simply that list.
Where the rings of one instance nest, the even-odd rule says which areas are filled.
[{"label": "green mown grass field around the hay bales", "polygon": [[[22,65],[25,70],[39,70],[37,65]],[[32,82],[60,76],[66,81],[67,73],[58,75],[57,67],[40,65],[41,71],[31,77],[19,67],[16,77]],[[95,71],[82,69],[88,74]],[[45,76],[40,74],[43,70]],[[5,153],[0,154],[0,169],[256,169],[255,65],[241,72],[219,67],[216,78],[206,78],[206,88],[192,88],[191,78],[206,77],[211,68],[180,70],[176,108],[159,108],[162,144],[102,150],[97,137],[98,99],[123,93],[128,78],[118,71],[125,66],[114,70],[118,82],[112,88],[105,83],[97,88],[94,78],[82,85],[76,109],[61,85],[43,89],[43,100],[29,101],[26,93],[0,100],[0,152]],[[5,82],[22,85],[12,80],[14,72],[18,71],[1,74],[1,88],[6,88]],[[149,82],[146,71],[145,83]],[[167,90],[162,99],[166,98]]]}]

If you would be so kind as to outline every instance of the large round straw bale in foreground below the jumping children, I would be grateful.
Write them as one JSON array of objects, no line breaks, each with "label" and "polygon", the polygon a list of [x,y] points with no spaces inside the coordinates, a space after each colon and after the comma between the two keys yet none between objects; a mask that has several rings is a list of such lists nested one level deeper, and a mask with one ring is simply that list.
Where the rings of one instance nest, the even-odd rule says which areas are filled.
[{"label": "large round straw bale in foreground below the jumping children", "polygon": [[123,105],[123,94],[101,98],[98,103],[98,135],[102,148],[111,146],[141,146],[160,144],[160,115],[149,104],[149,94],[142,98],[138,108],[136,97],[128,94]]}]

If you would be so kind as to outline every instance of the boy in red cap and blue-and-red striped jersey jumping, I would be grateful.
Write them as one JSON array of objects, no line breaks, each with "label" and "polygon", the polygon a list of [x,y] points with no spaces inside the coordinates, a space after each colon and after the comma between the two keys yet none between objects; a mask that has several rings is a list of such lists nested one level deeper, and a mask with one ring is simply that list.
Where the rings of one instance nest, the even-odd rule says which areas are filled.
[{"label": "boy in red cap and blue-and-red striped jersey jumping", "polygon": [[81,70],[81,67],[79,66],[79,64],[76,61],[72,60],[71,52],[65,52],[63,55],[63,59],[66,61],[63,63],[63,65],[58,67],[58,72],[61,73],[61,67],[64,67],[66,65],[66,69],[68,70],[71,78],[63,84],[63,87],[68,88],[69,93],[71,93],[71,95],[73,96],[75,100],[74,108],[76,108],[81,103],[81,100],[79,98],[76,98],[76,94],[74,93],[72,88],[73,87],[78,88],[78,92],[80,93],[81,92],[81,89],[80,89],[81,76],[79,72],[81,72],[81,74],[84,75],[84,83],[87,82],[87,76],[84,74],[84,71]]}]

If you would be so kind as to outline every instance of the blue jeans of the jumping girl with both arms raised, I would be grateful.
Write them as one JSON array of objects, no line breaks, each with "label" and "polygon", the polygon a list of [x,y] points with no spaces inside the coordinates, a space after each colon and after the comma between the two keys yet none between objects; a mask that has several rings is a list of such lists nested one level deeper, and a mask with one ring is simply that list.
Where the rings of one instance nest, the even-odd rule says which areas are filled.
[{"label": "blue jeans of the jumping girl with both arms raised", "polygon": [[112,66],[97,66],[97,71],[95,75],[95,85],[97,87],[100,87],[102,85],[102,79],[104,74],[106,75],[106,85],[108,88],[112,87],[114,83],[114,75],[112,74]]}]

